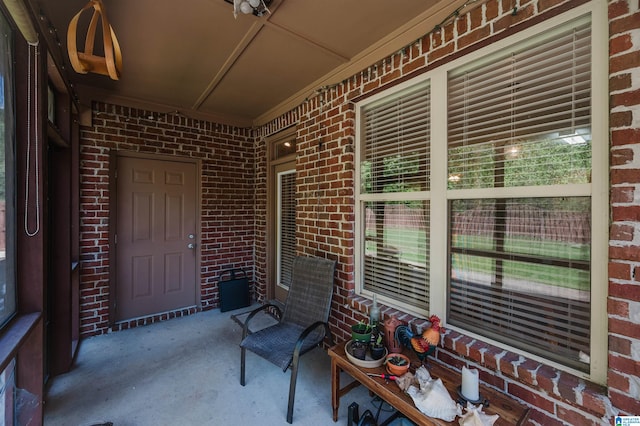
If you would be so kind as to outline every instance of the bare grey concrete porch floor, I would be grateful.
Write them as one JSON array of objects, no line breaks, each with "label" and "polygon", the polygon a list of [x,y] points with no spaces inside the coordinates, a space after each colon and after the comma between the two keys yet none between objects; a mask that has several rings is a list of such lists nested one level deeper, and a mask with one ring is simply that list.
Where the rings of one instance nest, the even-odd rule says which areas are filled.
[{"label": "bare grey concrete porch floor", "polygon": [[[242,329],[218,309],[84,340],[71,372],[54,377],[46,426],[285,425],[290,372],[247,353],[240,386]],[[342,383],[350,378],[343,373]],[[351,402],[375,407],[360,386],[332,420],[330,359],[320,348],[300,360],[294,425],[346,425]],[[383,413],[381,418],[385,418]]]}]

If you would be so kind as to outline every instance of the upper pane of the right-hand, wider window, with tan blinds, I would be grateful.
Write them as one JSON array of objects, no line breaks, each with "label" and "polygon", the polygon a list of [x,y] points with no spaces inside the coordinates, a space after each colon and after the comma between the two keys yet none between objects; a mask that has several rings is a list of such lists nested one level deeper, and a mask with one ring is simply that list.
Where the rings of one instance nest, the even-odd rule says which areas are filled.
[{"label": "upper pane of the right-hand, wider window, with tan blinds", "polygon": [[449,188],[591,182],[589,22],[449,74]]}]

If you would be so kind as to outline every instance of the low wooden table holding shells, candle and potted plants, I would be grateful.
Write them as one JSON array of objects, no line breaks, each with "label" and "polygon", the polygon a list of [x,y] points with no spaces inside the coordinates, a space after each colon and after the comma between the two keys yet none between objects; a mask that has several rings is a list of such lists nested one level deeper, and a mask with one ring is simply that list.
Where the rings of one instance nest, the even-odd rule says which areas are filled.
[{"label": "low wooden table holding shells, candle and potted plants", "polygon": [[[367,376],[367,373],[382,374],[386,373],[386,371],[384,367],[362,368],[352,364],[345,355],[344,345],[345,342],[342,342],[329,349],[329,356],[331,357],[331,405],[333,408],[334,422],[338,421],[340,398],[362,384],[418,425],[458,424],[458,417],[453,422],[445,422],[440,419],[427,417],[416,408],[411,397],[402,392],[396,383],[387,382],[380,377]],[[404,353],[412,359],[412,365],[419,365],[415,354],[409,353],[408,351]],[[461,382],[460,374],[433,361],[429,364],[429,367],[431,377],[434,379],[442,379],[449,394],[454,400],[457,400],[457,387],[460,386]],[[340,387],[341,371],[344,371],[355,379],[343,388]],[[480,386],[480,395],[482,398],[489,400],[489,406],[484,409],[484,412],[487,414],[498,414],[500,416],[494,423],[495,425],[521,425],[526,421],[529,409],[509,398],[509,396],[484,386]]]}]

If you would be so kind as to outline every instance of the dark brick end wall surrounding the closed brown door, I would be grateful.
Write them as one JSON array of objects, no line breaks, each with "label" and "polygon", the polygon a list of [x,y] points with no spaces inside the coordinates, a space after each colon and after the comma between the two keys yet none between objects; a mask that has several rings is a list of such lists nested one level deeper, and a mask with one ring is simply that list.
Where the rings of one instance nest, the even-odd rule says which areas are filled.
[{"label": "dark brick end wall surrounding the closed brown door", "polygon": [[250,131],[113,105],[94,105],[81,128],[80,311],[83,336],[109,329],[109,154],[114,150],[201,160],[201,306],[117,324],[128,328],[218,306],[220,272],[254,264],[254,144]]}]

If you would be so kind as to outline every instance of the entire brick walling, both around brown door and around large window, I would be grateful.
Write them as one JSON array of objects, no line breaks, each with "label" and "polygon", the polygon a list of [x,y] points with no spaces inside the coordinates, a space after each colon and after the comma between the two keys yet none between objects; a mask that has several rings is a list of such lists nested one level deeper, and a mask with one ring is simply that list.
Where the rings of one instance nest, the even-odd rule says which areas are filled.
[{"label": "entire brick walling, both around brown door and around large window", "polygon": [[[298,251],[338,260],[331,323],[337,337],[346,338],[349,325],[364,318],[370,306],[368,300],[353,293],[355,113],[351,101],[437,66],[439,60],[459,54],[460,49],[486,44],[492,37],[514,32],[518,24],[538,22],[559,10],[582,3],[583,0],[489,0],[481,3],[440,31],[426,35],[402,52],[373,64],[337,86],[321,90],[296,110],[257,129],[253,135],[255,145],[246,130],[179,116],[146,120],[145,111],[98,105],[94,125],[82,130],[84,335],[105,332],[108,324],[107,166],[110,149],[184,155],[203,160],[202,218],[206,234],[202,240],[201,284],[203,308],[212,308],[217,306],[215,278],[230,263],[229,259],[253,266],[257,295],[264,297],[266,294],[265,138],[296,124]],[[640,414],[638,3],[638,0],[609,2],[612,223],[606,388],[453,331],[446,334],[443,347],[438,351],[440,361],[455,368],[474,365],[486,384],[534,407],[532,424],[611,424],[613,413]],[[512,13],[514,7],[515,15]],[[254,157],[256,161],[252,163]],[[238,158],[246,162],[238,163]],[[231,235],[233,241],[229,240]],[[387,307],[382,307],[382,313],[405,321],[415,320]],[[173,313],[180,314],[182,312]],[[136,323],[126,326],[130,325]]]}]

